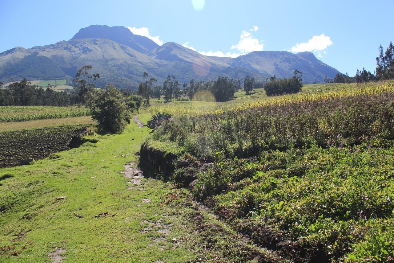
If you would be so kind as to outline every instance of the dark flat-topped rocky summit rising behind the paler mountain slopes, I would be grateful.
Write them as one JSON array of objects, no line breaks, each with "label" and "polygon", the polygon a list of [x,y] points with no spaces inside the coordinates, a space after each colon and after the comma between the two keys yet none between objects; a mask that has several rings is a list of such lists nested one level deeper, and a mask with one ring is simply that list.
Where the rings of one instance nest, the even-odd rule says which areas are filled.
[{"label": "dark flat-topped rocky summit rising behind the paler mountain slopes", "polygon": [[124,26],[102,26],[99,24],[81,28],[70,40],[84,38],[104,38],[115,41],[119,44],[126,45],[132,49],[147,53],[149,50],[158,47],[158,45],[144,36],[133,34]]}]

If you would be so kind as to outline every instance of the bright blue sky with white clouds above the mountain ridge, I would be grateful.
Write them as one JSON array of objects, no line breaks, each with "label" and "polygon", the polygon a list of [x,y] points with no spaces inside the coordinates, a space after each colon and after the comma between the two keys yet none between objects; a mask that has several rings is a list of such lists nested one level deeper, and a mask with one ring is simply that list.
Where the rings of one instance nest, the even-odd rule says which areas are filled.
[{"label": "bright blue sky with white clouds above the mountain ridge", "polygon": [[0,10],[0,52],[68,40],[102,24],[203,54],[311,51],[355,75],[357,68],[374,71],[379,44],[394,41],[393,0],[0,0]]}]

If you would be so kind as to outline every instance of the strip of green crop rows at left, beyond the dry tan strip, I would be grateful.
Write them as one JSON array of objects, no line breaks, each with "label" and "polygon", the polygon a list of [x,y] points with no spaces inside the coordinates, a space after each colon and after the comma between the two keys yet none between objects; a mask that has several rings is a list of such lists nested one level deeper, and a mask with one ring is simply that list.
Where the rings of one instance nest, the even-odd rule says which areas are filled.
[{"label": "strip of green crop rows at left, beyond the dry tan strip", "polygon": [[20,122],[89,115],[90,111],[88,109],[77,106],[0,106],[0,122]]}]

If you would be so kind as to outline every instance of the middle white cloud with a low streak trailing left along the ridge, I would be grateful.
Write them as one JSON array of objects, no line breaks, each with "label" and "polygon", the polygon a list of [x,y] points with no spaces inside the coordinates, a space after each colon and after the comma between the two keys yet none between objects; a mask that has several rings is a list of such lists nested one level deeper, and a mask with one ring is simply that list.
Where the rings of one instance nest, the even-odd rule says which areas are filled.
[{"label": "middle white cloud with a low streak trailing left along the ridge", "polygon": [[[249,31],[255,32],[258,30],[258,26],[253,26],[252,29]],[[197,51],[194,47],[190,46],[189,42],[185,42],[182,46],[187,47],[188,49],[191,49],[193,51]],[[230,57],[230,58],[236,58],[238,56],[247,54],[252,51],[262,51],[264,48],[264,44],[261,43],[256,38],[253,38],[252,33],[247,32],[246,30],[243,30],[240,36],[240,41],[238,41],[238,44],[232,45],[231,49],[237,49],[238,52],[223,52],[223,51],[197,51],[198,53],[204,55],[204,56],[220,56],[220,57]]]}]

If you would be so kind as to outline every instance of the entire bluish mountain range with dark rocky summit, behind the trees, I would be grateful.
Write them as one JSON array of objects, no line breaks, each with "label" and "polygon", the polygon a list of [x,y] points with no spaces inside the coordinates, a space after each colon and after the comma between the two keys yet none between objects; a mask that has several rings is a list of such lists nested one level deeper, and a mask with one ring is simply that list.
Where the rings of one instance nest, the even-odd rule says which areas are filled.
[{"label": "entire bluish mountain range with dark rocky summit, behind the trees", "polygon": [[76,71],[93,66],[100,73],[97,86],[115,83],[117,87],[136,88],[142,73],[162,84],[167,75],[181,82],[212,80],[218,76],[236,79],[247,75],[265,81],[273,75],[291,77],[294,70],[303,72],[303,82],[323,82],[337,70],[318,60],[310,52],[255,51],[237,58],[204,56],[174,42],[161,46],[123,26],[88,26],[68,41],[43,47],[15,47],[0,53],[0,81],[10,78],[72,80]]}]

